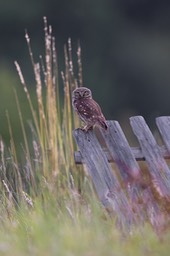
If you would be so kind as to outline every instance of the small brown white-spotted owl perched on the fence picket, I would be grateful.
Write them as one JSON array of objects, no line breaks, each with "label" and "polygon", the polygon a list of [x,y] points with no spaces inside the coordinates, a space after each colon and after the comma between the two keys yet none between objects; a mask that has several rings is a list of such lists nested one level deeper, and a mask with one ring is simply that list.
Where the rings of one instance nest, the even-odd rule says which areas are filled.
[{"label": "small brown white-spotted owl perched on the fence picket", "polygon": [[99,126],[107,130],[106,119],[101,108],[92,99],[91,90],[86,87],[79,87],[72,92],[72,104],[80,119],[86,124],[82,129],[88,131],[93,126]]}]

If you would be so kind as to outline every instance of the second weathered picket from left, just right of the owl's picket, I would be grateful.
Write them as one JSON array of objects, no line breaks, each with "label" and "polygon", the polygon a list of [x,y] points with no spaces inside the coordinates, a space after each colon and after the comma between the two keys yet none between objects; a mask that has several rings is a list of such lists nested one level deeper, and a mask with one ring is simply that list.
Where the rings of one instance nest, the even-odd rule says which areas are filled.
[{"label": "second weathered picket from left, just right of the owl's picket", "polygon": [[123,185],[126,187],[129,200],[138,217],[143,221],[145,209],[139,205],[142,188],[141,171],[131,151],[128,141],[117,121],[107,121],[108,130],[101,129],[101,134],[108,147],[110,155],[118,167]]}]

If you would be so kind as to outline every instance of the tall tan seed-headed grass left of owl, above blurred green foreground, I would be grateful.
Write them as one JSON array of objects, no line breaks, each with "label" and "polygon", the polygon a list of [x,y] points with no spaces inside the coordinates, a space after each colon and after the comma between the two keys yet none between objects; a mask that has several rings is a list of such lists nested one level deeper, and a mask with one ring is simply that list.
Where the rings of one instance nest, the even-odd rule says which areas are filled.
[{"label": "tall tan seed-headed grass left of owl, above blurred green foreground", "polygon": [[[44,33],[45,58],[40,56],[39,62],[35,62],[29,35],[27,32],[25,34],[35,76],[37,108],[30,96],[29,86],[24,79],[21,67],[15,61],[32,114],[32,123],[30,123],[32,138],[28,138],[23,121],[24,113],[22,113],[15,91],[24,142],[22,164],[18,162],[8,113],[7,120],[11,138],[8,152],[1,141],[2,187],[8,194],[10,191],[10,201],[14,205],[16,202],[17,204],[24,201],[28,203],[29,196],[34,200],[41,195],[44,200],[45,190],[53,191],[58,195],[62,191],[70,196],[73,191],[80,189],[80,183],[84,179],[81,168],[77,168],[74,163],[75,145],[72,130],[79,126],[79,120],[73,114],[71,106],[71,91],[82,84],[81,49],[78,46],[78,79],[76,79],[70,39],[64,47],[65,71],[61,73],[63,80],[61,87],[61,85],[59,86],[60,74],[58,73],[55,38],[52,35],[52,27],[48,26],[46,18],[44,18]],[[63,98],[60,96],[61,89],[64,91]],[[9,161],[7,162],[6,159]]]}]

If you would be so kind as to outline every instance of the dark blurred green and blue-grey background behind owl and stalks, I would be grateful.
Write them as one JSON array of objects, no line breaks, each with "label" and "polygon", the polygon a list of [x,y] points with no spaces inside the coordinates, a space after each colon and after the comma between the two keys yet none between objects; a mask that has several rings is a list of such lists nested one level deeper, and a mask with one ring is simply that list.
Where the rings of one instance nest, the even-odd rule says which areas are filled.
[{"label": "dark blurred green and blue-grey background behind owl and stalks", "polygon": [[68,37],[75,56],[80,41],[84,86],[107,119],[128,124],[128,117],[143,115],[152,126],[156,116],[170,115],[169,0],[0,0],[0,134],[5,140],[6,110],[14,133],[20,129],[14,89],[24,118],[31,118],[14,61],[35,94],[25,29],[38,61],[44,55],[43,16],[53,27],[60,71]]}]

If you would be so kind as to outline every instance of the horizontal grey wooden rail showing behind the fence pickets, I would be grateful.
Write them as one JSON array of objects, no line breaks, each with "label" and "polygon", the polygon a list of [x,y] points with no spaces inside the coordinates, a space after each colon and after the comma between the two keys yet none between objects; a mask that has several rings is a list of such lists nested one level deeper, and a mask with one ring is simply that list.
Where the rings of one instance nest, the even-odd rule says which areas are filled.
[{"label": "horizontal grey wooden rail showing behind the fence pickets", "polygon": [[[160,152],[161,152],[162,156],[165,159],[170,159],[170,154],[169,154],[166,146],[164,146],[164,145],[163,146],[159,146],[159,148],[160,148]],[[131,151],[132,151],[132,154],[134,155],[134,157],[135,157],[135,159],[137,161],[145,161],[145,157],[142,154],[141,148],[139,148],[139,147],[131,147]],[[110,155],[110,153],[109,153],[109,151],[107,149],[103,149],[103,153],[106,155],[108,162],[114,162],[114,159],[112,159],[112,157],[111,157],[111,155]],[[75,159],[75,163],[76,164],[84,163],[83,157],[82,157],[80,151],[75,151],[74,152],[74,159]]]}]

